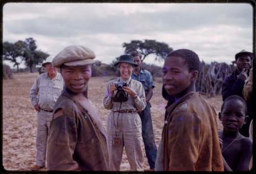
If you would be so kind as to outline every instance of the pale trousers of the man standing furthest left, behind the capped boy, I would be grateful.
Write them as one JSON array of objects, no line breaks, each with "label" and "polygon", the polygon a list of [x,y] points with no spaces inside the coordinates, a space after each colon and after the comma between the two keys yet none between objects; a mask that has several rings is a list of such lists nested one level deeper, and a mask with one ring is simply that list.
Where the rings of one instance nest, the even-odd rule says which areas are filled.
[{"label": "pale trousers of the man standing furthest left, behind the capped boy", "polygon": [[36,165],[46,165],[46,149],[49,133],[49,124],[52,119],[51,113],[38,112],[37,134],[36,134]]}]

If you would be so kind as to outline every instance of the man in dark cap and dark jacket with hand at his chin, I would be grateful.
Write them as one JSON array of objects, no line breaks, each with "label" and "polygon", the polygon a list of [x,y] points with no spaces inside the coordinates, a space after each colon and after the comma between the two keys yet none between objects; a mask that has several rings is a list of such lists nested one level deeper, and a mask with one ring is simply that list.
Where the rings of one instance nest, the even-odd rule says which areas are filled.
[{"label": "man in dark cap and dark jacket with hand at his chin", "polygon": [[[240,97],[243,97],[242,91],[244,88],[245,80],[249,75],[253,54],[246,50],[242,50],[234,57],[237,64],[237,69],[232,74],[225,77],[222,83],[221,93],[223,101],[231,95],[238,95]],[[249,103],[250,102],[247,101],[249,118],[247,120],[247,123],[244,124],[243,127],[239,130],[240,134],[246,137],[249,137],[249,124],[252,119],[251,105]]]}]

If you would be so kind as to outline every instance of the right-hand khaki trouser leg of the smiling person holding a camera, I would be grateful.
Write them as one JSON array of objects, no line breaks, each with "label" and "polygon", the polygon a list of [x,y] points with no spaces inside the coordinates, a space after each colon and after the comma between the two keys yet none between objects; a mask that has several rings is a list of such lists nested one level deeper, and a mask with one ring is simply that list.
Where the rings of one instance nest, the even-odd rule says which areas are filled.
[{"label": "right-hand khaki trouser leg of the smiling person holding a camera", "polygon": [[[124,117],[123,117],[124,119]],[[138,114],[127,115],[123,130],[124,148],[132,171],[143,171],[141,120]]]}]

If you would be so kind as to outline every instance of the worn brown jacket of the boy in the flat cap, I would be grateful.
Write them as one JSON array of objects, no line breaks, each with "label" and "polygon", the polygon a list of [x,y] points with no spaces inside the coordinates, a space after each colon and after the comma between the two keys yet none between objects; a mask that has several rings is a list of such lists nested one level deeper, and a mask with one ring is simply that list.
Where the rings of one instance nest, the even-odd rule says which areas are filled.
[{"label": "worn brown jacket of the boy in the flat cap", "polygon": [[49,170],[109,170],[109,153],[102,123],[67,91],[58,98],[54,112],[63,115],[53,120],[47,147]]}]

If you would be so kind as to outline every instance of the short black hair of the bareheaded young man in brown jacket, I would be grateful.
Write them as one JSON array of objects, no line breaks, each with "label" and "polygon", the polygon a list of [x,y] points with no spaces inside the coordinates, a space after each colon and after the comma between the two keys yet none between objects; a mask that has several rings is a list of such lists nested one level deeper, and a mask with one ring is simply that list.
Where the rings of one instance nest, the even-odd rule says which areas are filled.
[{"label": "short black hair of the bareheaded young man in brown jacket", "polygon": [[187,50],[187,49],[179,49],[179,50],[170,52],[166,57],[170,57],[170,56],[183,58],[185,63],[187,64],[189,72],[195,71],[195,70],[199,71],[200,60],[198,55],[194,51]]}]

